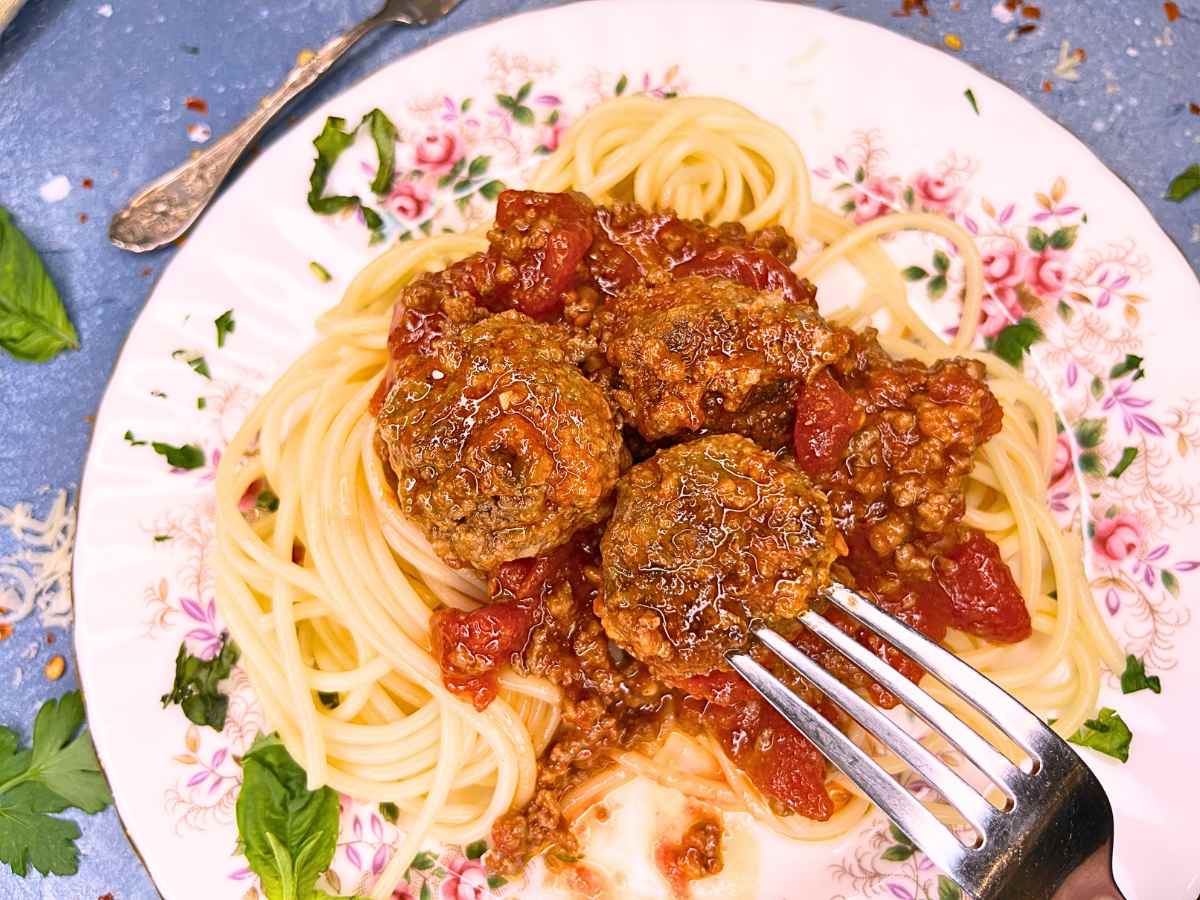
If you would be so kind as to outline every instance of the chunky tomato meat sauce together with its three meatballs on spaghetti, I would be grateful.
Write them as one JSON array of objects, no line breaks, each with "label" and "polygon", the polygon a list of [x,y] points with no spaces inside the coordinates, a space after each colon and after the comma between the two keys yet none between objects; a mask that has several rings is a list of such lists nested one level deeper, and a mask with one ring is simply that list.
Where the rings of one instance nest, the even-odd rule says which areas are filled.
[{"label": "chunky tomato meat sauce together with its three meatballs on spaghetti", "polygon": [[[998,548],[961,523],[964,478],[1001,424],[982,366],[893,360],[871,331],[828,326],[814,287],[790,269],[796,252],[780,228],[505,191],[486,251],[398,293],[372,401],[377,443],[438,552],[491,576],[490,605],[433,617],[445,684],[482,709],[512,666],[564,694],[533,799],[493,828],[494,870],[552,846],[576,853],[564,797],[611,754],[653,750],[670,728],[712,734],[776,812],[832,815],[824,758],[720,668],[730,636],[744,640],[751,617],[776,618],[839,678],[894,703],[787,618],[830,563],[833,577],[935,640],[949,626],[1001,642],[1030,634]],[[727,432],[792,454],[713,437]],[[672,446],[697,434],[709,437]],[[623,481],[630,497],[601,560],[606,494],[630,455],[642,464]],[[838,720],[811,685],[751,653]],[[707,872],[718,846],[698,827],[673,858]]]}]

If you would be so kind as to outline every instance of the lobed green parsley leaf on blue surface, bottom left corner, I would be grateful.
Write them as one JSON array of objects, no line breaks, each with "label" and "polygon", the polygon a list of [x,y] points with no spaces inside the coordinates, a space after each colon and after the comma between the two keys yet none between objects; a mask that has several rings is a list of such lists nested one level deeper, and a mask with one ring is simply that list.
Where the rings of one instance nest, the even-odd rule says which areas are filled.
[{"label": "lobed green parsley leaf on blue surface, bottom left corner", "polygon": [[24,877],[29,866],[74,875],[79,827],[50,814],[98,812],[113,802],[83,720],[83,700],[73,691],[42,704],[29,750],[0,727],[0,863],[14,875]]}]

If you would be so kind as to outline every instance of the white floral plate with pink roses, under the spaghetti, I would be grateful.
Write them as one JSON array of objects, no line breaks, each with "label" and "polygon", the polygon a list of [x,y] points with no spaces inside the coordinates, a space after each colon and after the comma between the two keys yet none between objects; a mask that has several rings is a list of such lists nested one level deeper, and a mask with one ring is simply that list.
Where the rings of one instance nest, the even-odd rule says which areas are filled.
[{"label": "white floral plate with pink roses, under the spaghetti", "polygon": [[[180,643],[211,654],[221,634],[210,554],[222,446],[312,340],[314,317],[385,242],[486,222],[494,196],[520,185],[574,116],[630,92],[738,100],[796,137],[821,202],[859,222],[935,210],[977,235],[990,288],[983,331],[1001,348],[1032,347],[1026,367],[1066,425],[1050,503],[1086,542],[1096,602],[1163,680],[1160,695],[1122,696],[1108,678],[1102,701],[1132,727],[1132,756],[1121,764],[1085,751],[1117,810],[1117,875],[1132,900],[1196,896],[1200,727],[1188,689],[1200,683],[1200,626],[1190,622],[1200,595],[1200,383],[1189,335],[1200,286],[1134,196],[1007,89],[870,25],[719,0],[577,4],[397,61],[266,150],[163,275],[100,410],[74,570],[92,733],[162,894],[257,893],[236,852],[233,808],[238,757],[269,724],[239,672],[220,734],[160,702]],[[305,203],[325,116],[354,122],[374,107],[400,131],[395,181],[372,197],[364,136],[329,188],[367,198],[384,244],[371,242],[361,214],[322,217]],[[953,252],[920,236],[890,250],[914,300],[934,320],[953,318]],[[823,302],[847,278],[826,278]],[[218,346],[214,322],[227,310],[236,329]],[[204,464],[173,469],[140,440],[196,444]],[[648,847],[683,821],[682,800],[634,785],[612,806],[586,860],[553,877],[503,884],[479,862],[484,845],[430,846],[397,896],[666,895]],[[396,838],[377,808],[346,799],[328,887],[349,894],[370,883]],[[733,821],[726,860],[695,896],[959,895],[880,818],[809,846]]]}]

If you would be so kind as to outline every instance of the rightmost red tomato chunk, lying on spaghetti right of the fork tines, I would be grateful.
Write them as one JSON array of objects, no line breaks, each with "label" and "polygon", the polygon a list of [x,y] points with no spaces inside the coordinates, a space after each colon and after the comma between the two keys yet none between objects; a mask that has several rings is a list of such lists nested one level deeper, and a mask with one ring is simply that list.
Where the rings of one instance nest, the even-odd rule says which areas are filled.
[{"label": "rightmost red tomato chunk, lying on spaghetti right of the fork tines", "polygon": [[950,605],[950,624],[997,643],[1033,632],[1025,598],[997,547],[983,532],[964,529],[959,544],[935,560],[937,583]]}]

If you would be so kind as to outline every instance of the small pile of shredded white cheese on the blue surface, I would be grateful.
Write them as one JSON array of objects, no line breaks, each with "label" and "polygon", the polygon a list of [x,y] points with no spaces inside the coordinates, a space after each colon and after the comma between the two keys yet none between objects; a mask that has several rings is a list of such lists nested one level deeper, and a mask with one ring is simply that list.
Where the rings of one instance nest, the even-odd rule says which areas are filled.
[{"label": "small pile of shredded white cheese on the blue surface", "polygon": [[59,491],[44,518],[28,503],[0,506],[0,528],[17,539],[17,551],[0,557],[0,624],[16,624],[37,610],[44,628],[70,625],[76,509],[67,492]]}]

